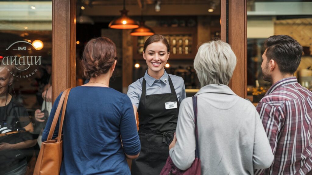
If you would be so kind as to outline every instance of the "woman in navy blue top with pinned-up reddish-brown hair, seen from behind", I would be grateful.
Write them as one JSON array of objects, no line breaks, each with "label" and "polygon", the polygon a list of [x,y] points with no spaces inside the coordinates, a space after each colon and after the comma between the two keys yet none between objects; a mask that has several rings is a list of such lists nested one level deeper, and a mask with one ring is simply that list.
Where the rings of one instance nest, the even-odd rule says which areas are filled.
[{"label": "woman in navy blue top with pinned-up reddish-brown hair, seen from behind", "polygon": [[[116,62],[116,46],[110,39],[99,37],[85,45],[81,64],[90,81],[72,88],[68,97],[60,174],[130,174],[126,158],[139,156],[140,141],[129,97],[109,87]],[[47,139],[60,97],[42,141]]]}]

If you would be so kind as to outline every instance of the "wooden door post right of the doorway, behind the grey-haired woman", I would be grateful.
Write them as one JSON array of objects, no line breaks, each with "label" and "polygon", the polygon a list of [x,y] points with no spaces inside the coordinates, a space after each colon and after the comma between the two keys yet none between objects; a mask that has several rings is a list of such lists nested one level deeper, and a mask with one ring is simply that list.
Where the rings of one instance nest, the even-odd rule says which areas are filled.
[{"label": "wooden door post right of the doorway, behind the grey-haired woman", "polygon": [[237,63],[229,87],[247,98],[247,0],[221,0],[221,40],[229,43]]}]

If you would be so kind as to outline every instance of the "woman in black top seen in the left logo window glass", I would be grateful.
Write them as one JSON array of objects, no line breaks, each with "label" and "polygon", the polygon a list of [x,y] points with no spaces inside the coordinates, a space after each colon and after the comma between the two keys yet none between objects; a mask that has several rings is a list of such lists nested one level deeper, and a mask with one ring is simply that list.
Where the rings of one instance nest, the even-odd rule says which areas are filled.
[{"label": "woman in black top seen in the left logo window glass", "polygon": [[0,65],[0,174],[24,175],[36,140],[26,109],[12,95],[14,66]]}]

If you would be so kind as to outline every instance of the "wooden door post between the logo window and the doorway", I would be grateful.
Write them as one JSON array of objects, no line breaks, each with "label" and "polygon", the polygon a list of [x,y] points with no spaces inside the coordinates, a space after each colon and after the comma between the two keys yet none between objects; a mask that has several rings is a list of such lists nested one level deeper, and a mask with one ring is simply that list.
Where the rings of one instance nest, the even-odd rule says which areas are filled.
[{"label": "wooden door post between the logo window and the doorway", "polygon": [[52,0],[52,101],[76,86],[76,0]]}]

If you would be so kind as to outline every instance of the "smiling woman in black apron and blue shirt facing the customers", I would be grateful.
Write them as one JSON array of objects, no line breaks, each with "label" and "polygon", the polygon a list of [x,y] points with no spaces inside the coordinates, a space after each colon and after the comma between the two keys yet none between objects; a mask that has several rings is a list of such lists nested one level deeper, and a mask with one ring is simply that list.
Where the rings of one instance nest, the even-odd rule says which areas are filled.
[{"label": "smiling woman in black apron and blue shirt facing the customers", "polygon": [[159,175],[169,156],[180,102],[186,98],[184,80],[167,74],[169,43],[162,35],[150,36],[144,44],[143,58],[148,70],[129,86],[134,115],[139,113],[141,152],[132,161],[131,173]]}]

